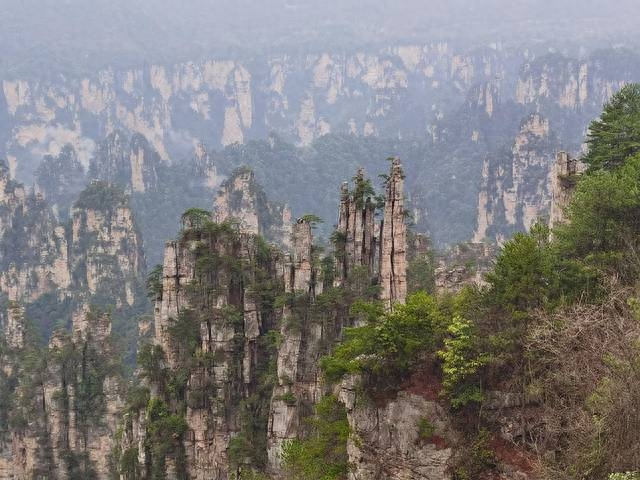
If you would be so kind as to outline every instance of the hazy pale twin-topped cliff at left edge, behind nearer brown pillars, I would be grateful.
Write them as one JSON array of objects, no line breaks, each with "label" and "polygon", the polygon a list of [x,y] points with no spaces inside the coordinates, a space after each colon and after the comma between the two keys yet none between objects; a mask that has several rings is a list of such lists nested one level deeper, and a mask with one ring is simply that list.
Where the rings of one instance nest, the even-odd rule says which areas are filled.
[{"label": "hazy pale twin-topped cliff at left edge, behind nearer brown pillars", "polygon": [[45,340],[89,304],[113,305],[118,332],[129,329],[126,317],[147,300],[142,240],[124,192],[94,182],[70,218],[58,217],[42,195],[2,172],[2,298],[21,305]]}]

